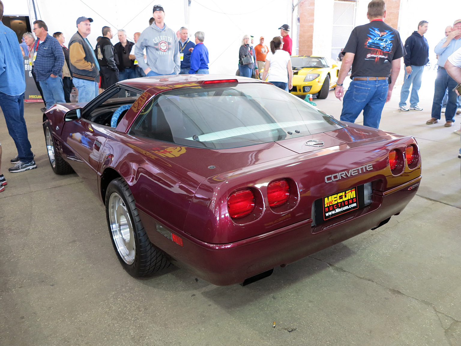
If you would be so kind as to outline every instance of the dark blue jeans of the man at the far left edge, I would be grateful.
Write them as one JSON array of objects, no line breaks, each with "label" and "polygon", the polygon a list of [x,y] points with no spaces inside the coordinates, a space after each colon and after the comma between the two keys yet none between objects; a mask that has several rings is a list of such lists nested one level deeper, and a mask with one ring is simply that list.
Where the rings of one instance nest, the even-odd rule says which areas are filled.
[{"label": "dark blue jeans of the man at the far left edge", "polygon": [[19,160],[25,163],[34,160],[27,136],[27,126],[24,120],[24,94],[10,96],[0,92],[0,107],[5,117],[8,133],[13,138],[18,150]]}]

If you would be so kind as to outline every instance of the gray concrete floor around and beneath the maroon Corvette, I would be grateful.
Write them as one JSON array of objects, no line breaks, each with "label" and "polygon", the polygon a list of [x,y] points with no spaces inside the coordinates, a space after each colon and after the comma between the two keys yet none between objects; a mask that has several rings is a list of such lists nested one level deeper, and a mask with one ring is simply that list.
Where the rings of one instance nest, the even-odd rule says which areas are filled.
[{"label": "gray concrete floor around and beneath the maroon Corvette", "polygon": [[[407,209],[244,287],[174,267],[126,274],[104,206],[76,174],[53,173],[42,104],[26,104],[38,168],[5,173],[0,193],[0,345],[461,345],[459,122],[425,125],[433,78],[422,112],[397,111],[396,88],[380,125],[420,144],[424,178]],[[339,117],[333,91],[314,101]],[[7,172],[16,151],[3,117],[0,142]]]}]

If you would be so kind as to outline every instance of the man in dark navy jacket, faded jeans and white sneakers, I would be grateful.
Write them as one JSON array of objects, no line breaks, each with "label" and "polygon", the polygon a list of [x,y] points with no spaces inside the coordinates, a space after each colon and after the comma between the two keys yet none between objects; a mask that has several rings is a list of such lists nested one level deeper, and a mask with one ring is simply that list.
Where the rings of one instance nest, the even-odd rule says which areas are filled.
[{"label": "man in dark navy jacket, faded jeans and white sneakers", "polygon": [[[421,87],[421,78],[423,76],[424,66],[429,62],[429,45],[426,37],[423,35],[427,31],[428,22],[421,20],[418,24],[418,31],[414,31],[405,41],[405,50],[407,55],[403,57],[405,63],[405,79],[400,92],[399,109],[401,111],[422,111],[423,108],[418,106],[420,98],[418,90]],[[407,98],[410,93],[410,86],[413,84],[410,95],[410,109],[407,108]]]}]

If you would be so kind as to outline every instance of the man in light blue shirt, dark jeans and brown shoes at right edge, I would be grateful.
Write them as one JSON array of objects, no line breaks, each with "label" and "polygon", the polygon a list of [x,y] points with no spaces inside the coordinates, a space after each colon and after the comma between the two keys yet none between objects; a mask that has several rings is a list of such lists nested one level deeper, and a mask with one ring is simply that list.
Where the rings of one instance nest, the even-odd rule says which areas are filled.
[{"label": "man in light blue shirt, dark jeans and brown shoes at right edge", "polygon": [[427,125],[438,123],[446,89],[448,89],[448,103],[445,109],[444,126],[450,127],[455,122],[457,95],[455,91],[453,91],[453,88],[455,88],[456,82],[449,76],[447,70],[445,70],[443,66],[448,57],[459,48],[461,48],[461,19],[455,20],[455,23],[453,23],[453,30],[451,30],[447,37],[443,37],[434,48],[435,54],[438,54],[438,69],[434,87],[434,99],[432,101],[431,119],[426,121]]}]

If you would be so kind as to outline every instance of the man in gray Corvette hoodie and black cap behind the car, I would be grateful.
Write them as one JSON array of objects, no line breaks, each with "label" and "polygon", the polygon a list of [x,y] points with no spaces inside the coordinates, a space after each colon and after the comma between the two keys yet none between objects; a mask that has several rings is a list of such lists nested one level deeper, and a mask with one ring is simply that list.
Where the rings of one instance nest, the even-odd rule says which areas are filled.
[{"label": "man in gray Corvette hoodie and black cap behind the car", "polygon": [[[155,5],[153,12],[154,23],[142,31],[136,43],[136,60],[148,77],[178,74],[181,71],[181,61],[176,33],[166,26],[162,6]],[[144,48],[147,63],[144,62]]]}]

